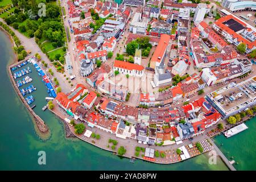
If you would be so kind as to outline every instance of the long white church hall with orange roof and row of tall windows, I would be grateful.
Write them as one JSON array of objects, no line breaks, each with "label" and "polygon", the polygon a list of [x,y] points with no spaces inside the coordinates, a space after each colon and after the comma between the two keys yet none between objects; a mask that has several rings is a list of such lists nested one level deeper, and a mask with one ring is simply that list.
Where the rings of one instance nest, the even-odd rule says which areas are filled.
[{"label": "long white church hall with orange roof and row of tall windows", "polygon": [[144,74],[144,67],[138,64],[115,60],[114,71],[118,71],[119,73],[129,75],[129,76],[141,77]]}]

